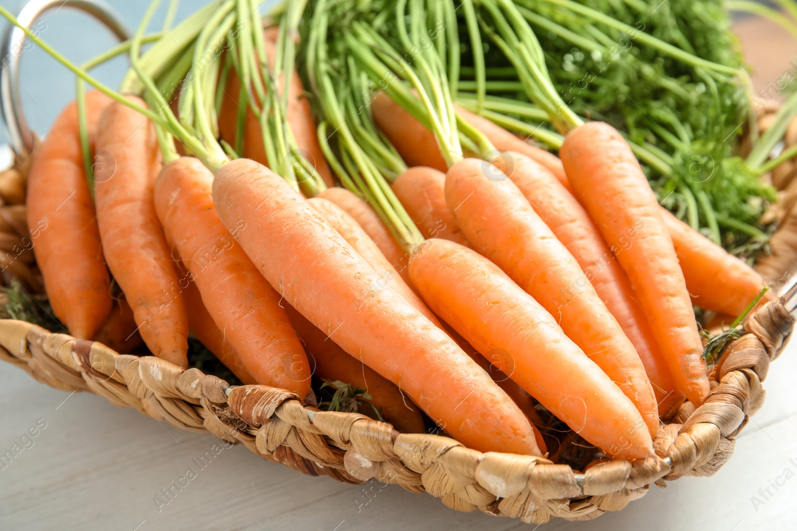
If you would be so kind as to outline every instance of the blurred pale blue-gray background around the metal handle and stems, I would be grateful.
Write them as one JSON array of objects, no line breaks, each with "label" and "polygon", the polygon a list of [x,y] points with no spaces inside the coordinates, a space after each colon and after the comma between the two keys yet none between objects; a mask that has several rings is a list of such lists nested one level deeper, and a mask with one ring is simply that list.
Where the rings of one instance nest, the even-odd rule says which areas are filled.
[{"label": "blurred pale blue-gray background around the metal handle and stems", "polygon": [[[106,0],[106,2],[121,15],[131,31],[135,31],[150,4],[150,0]],[[208,2],[210,0],[183,0],[179,5],[177,21],[183,20]],[[14,14],[17,14],[25,3],[24,0],[0,0],[0,5]],[[266,2],[266,4],[271,3],[273,2]],[[163,22],[168,2],[162,4],[159,13],[153,18],[154,22],[151,22],[147,29],[148,33],[160,30],[158,25]],[[41,31],[40,37],[77,64],[95,57],[116,44],[112,33],[77,10],[67,7],[57,11],[51,10],[41,20],[45,22],[46,27]],[[5,35],[8,23],[2,17],[0,25],[3,29],[0,34]],[[21,61],[20,85],[25,115],[30,127],[39,135],[45,135],[61,108],[73,100],[75,78],[71,72],[38,47],[23,53]],[[96,68],[92,71],[92,75],[116,88],[127,68],[127,58],[119,57]],[[0,127],[0,144],[7,141],[6,128],[3,125]]]}]

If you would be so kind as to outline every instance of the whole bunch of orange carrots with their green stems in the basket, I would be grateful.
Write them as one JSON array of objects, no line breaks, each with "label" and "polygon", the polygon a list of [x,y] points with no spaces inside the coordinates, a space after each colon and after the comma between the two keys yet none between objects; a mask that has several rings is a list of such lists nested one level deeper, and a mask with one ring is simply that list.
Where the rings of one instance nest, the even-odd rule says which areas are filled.
[{"label": "whole bunch of orange carrots with their green stems in the basket", "polygon": [[[450,0],[349,3],[265,21],[216,0],[83,67],[28,33],[78,77],[29,177],[57,318],[137,330],[183,368],[194,334],[245,384],[315,404],[315,377],[479,451],[545,455],[542,412],[648,457],[710,391],[693,305],[736,326],[763,280],[659,206],[618,131],[567,111],[513,2],[461,2],[467,46]],[[453,103],[460,49],[479,69],[474,4],[508,21],[558,157]],[[88,69],[120,54],[114,91]]]}]

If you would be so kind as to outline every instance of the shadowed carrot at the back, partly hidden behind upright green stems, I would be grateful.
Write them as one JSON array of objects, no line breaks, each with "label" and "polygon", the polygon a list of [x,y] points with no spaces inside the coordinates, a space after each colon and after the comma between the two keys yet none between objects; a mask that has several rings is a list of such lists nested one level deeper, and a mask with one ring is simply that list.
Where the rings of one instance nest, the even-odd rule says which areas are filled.
[{"label": "shadowed carrot at the back, partly hidden behind upright green stems", "polygon": [[[265,32],[265,37],[265,49],[269,56],[269,65],[273,65],[276,55],[273,39],[277,37],[269,31]],[[277,86],[283,86],[282,79],[277,80]],[[224,88],[224,97],[218,119],[221,137],[230,143],[231,146],[235,146],[238,109],[239,105],[242,104],[239,103],[240,96],[241,80],[238,79],[238,73],[235,68],[231,68]],[[257,103],[260,104],[261,102]],[[251,158],[268,166],[261,124],[248,105],[245,108],[245,113],[243,153],[241,156]],[[307,92],[304,90],[304,85],[296,70],[291,74],[288,88],[288,113],[285,115],[285,119],[288,120],[293,138],[296,139],[296,145],[303,151],[304,158],[316,169],[321,178],[324,179],[324,182],[328,186],[332,186],[334,184],[332,171],[329,169],[327,160],[324,158],[324,152],[318,143],[316,124],[312,119]]]}]

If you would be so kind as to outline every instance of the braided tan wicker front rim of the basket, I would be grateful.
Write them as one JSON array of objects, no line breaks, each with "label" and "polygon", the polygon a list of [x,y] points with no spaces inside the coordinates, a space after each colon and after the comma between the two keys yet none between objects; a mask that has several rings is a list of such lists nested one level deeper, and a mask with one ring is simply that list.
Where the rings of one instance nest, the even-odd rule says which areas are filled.
[{"label": "braided tan wicker front rim of the basket", "polygon": [[761,382],[794,321],[783,300],[768,303],[725,350],[705,403],[685,403],[673,424],[662,425],[656,457],[614,459],[584,473],[541,457],[481,453],[440,435],[401,434],[356,413],[305,407],[283,389],[230,387],[199,369],[118,354],[29,322],[0,321],[0,359],[54,388],[94,392],[176,428],[210,431],[304,474],[398,483],[454,510],[542,523],[589,520],[641,498],[650,483],[717,472],[732,454],[733,437],[764,403]]}]

